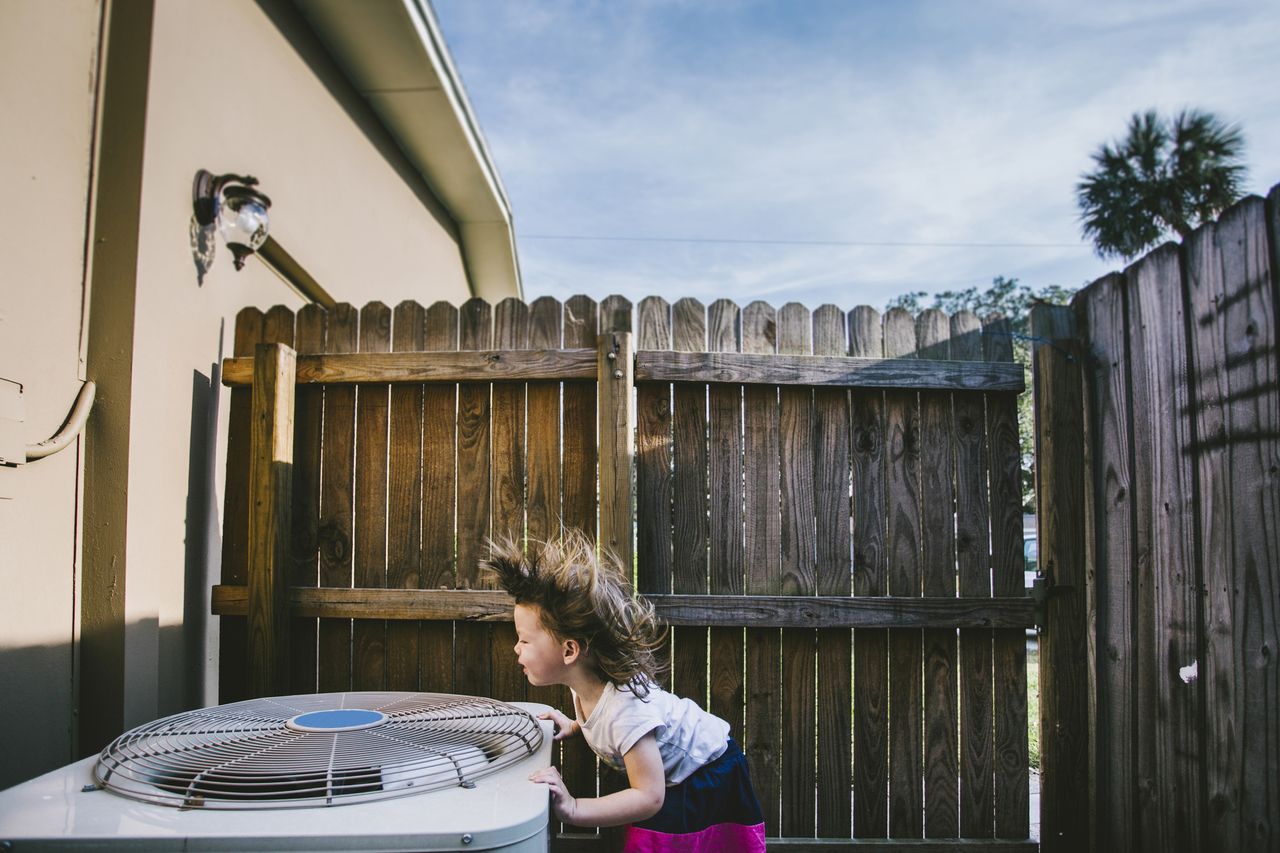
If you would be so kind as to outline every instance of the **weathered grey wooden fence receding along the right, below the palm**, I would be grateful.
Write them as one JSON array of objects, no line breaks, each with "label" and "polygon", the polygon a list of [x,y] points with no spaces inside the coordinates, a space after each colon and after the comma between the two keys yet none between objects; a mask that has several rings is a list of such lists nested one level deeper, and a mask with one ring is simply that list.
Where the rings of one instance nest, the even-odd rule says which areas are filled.
[{"label": "weathered grey wooden fence receding along the right, below the palm", "polygon": [[1277,205],[1033,315],[1046,850],[1280,849]]}]

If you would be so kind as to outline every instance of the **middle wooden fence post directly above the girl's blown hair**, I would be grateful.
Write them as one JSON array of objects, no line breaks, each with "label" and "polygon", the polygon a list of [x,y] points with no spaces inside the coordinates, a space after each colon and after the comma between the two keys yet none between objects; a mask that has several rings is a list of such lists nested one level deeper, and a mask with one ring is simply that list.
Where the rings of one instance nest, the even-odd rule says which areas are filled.
[{"label": "middle wooden fence post directly above the girl's blown hair", "polygon": [[631,574],[631,521],[635,498],[631,462],[635,457],[635,364],[630,332],[605,332],[596,338],[600,424],[600,544],[609,548]]}]

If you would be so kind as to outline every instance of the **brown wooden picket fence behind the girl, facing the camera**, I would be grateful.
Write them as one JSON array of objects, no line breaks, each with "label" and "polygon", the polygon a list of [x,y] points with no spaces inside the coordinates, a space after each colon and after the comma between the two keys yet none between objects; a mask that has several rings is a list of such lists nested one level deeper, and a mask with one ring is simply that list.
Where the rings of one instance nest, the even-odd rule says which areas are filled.
[{"label": "brown wooden picket fence behind the girl, facing the camera", "polygon": [[[1006,323],[374,302],[247,309],[234,355],[223,701],[567,707],[525,684],[479,566],[488,537],[575,526],[634,560],[675,626],[672,688],[744,743],[771,847],[1036,849]],[[581,743],[559,762],[571,790],[622,784]]]}]

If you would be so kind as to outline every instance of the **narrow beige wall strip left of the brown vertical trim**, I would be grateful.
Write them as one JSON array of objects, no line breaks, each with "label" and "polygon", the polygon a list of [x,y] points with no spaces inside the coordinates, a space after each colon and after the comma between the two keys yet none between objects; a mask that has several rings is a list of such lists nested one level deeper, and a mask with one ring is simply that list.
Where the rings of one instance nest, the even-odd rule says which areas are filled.
[{"label": "narrow beige wall strip left of the brown vertical trim", "polygon": [[[27,443],[58,429],[83,375],[97,5],[0,12],[0,377],[23,386]],[[72,758],[78,452],[0,466],[0,786]]]}]

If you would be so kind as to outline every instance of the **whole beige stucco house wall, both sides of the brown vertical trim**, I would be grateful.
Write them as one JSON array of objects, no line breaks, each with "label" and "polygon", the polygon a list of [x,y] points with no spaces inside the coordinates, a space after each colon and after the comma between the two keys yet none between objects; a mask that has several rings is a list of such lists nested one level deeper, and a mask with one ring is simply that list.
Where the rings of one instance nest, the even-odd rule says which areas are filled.
[{"label": "whole beige stucco house wall, both sides of the brown vertical trim", "polygon": [[[207,601],[227,461],[219,362],[239,309],[302,300],[256,259],[237,273],[220,240],[198,280],[196,170],[256,175],[274,202],[271,236],[338,301],[471,295],[458,227],[292,9],[154,4],[132,279],[102,274],[93,224],[102,207],[92,188],[114,167],[91,169],[102,4],[10,0],[0,12],[10,193],[0,206],[0,378],[26,387],[32,443],[59,426],[84,375],[100,397],[77,447],[0,467],[0,786],[101,745],[76,743],[82,612],[97,638],[123,610],[123,690],[95,686],[81,708],[127,727],[218,701]],[[96,311],[87,330],[82,305]],[[86,476],[92,453],[99,466],[91,457]],[[82,576],[95,579],[84,602]],[[119,654],[92,660],[111,669]]]}]

